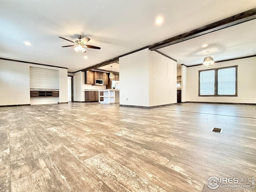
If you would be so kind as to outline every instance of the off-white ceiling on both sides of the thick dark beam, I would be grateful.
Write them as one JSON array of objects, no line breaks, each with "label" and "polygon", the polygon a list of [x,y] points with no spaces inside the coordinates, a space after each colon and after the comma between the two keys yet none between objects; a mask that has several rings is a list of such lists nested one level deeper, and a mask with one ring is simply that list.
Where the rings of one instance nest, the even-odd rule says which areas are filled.
[{"label": "off-white ceiling on both sides of the thick dark beam", "polygon": [[[0,58],[61,66],[75,72],[255,7],[255,0],[1,0]],[[155,22],[158,17],[163,19],[160,25]],[[249,30],[255,32],[255,22],[250,22]],[[232,38],[228,36],[229,44],[223,43],[225,36],[212,37],[214,32],[159,50],[178,63],[198,64],[204,56],[196,60],[194,53],[201,50],[203,42],[220,49],[214,60],[225,59],[233,55],[222,51],[248,42],[244,36],[252,37],[249,30],[240,28],[243,35],[238,38],[235,32]],[[88,36],[88,44],[101,50],[88,48],[79,56],[74,48],[61,47],[72,43],[58,36],[74,41],[78,34]],[[197,42],[199,38],[204,39]],[[241,42],[236,41],[240,38]],[[31,46],[24,45],[25,41]]]}]

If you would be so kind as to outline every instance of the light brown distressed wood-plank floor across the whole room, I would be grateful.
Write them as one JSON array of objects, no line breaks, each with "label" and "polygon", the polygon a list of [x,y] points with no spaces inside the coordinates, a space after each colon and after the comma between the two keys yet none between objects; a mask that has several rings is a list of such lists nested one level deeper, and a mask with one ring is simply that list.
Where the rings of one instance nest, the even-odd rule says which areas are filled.
[{"label": "light brown distressed wood-plank floor across the whole room", "polygon": [[[213,192],[256,176],[256,106],[0,108],[1,192]],[[210,132],[223,128],[222,134]]]}]

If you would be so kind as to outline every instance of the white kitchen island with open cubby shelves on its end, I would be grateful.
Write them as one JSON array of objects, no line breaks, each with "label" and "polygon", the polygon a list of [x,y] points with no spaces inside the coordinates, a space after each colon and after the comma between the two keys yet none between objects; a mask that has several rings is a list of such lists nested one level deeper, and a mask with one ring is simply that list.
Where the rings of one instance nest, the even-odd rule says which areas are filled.
[{"label": "white kitchen island with open cubby shelves on its end", "polygon": [[[103,95],[101,93],[103,93]],[[103,101],[101,101],[100,98],[103,98]],[[119,89],[99,90],[99,101],[101,104],[119,103]]]}]

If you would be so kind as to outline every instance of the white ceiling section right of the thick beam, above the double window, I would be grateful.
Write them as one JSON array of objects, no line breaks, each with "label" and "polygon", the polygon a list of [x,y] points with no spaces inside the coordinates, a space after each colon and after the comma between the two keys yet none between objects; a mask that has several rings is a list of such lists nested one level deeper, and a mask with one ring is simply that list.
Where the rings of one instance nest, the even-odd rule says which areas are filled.
[{"label": "white ceiling section right of the thick beam, above the double window", "polygon": [[[209,54],[215,61],[251,56],[256,54],[256,19],[208,33],[197,38],[186,40],[158,51],[177,60],[177,64],[187,66],[202,64],[204,55],[198,55],[203,50],[217,50]],[[202,45],[208,46],[203,48]]]}]

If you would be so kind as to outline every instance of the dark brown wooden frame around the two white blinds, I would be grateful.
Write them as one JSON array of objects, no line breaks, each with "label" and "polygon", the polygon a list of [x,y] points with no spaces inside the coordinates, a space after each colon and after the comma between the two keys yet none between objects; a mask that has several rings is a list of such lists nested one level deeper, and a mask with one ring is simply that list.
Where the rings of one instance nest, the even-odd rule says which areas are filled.
[{"label": "dark brown wooden frame around the two white blinds", "polygon": [[[218,95],[218,70],[219,69],[225,69],[225,68],[233,68],[233,67],[236,68],[236,92],[235,92],[235,94],[234,95]],[[237,97],[238,96],[237,95],[237,68],[238,68],[238,65],[199,70],[198,71],[198,96],[199,97]],[[209,70],[214,70],[215,71],[214,95],[200,95],[200,72],[209,71]]]}]

